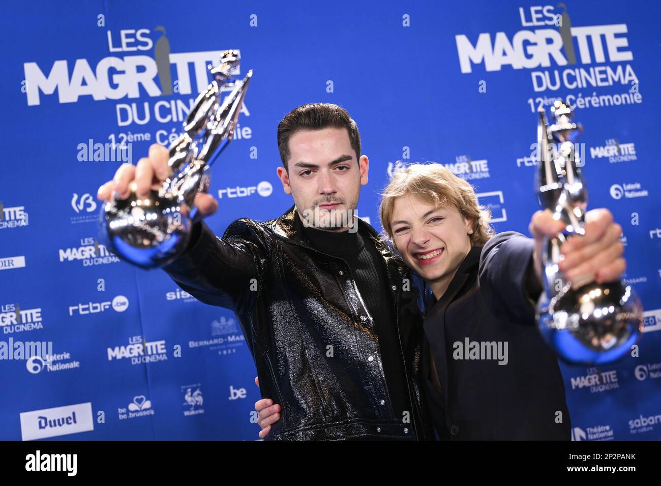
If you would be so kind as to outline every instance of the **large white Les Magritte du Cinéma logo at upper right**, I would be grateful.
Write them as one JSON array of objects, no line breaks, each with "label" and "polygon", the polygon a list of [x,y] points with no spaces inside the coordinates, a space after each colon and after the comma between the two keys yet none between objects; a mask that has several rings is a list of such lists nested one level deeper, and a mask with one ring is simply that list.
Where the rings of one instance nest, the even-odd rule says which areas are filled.
[{"label": "large white Les Magritte du Cin\u00e9ma logo at upper right", "polygon": [[[501,71],[503,67],[527,69],[535,92],[590,90],[565,97],[578,108],[642,102],[639,80],[629,63],[633,52],[629,49],[627,24],[577,26],[563,3],[519,7],[518,18],[523,28],[517,32],[481,32],[477,38],[456,34],[461,73],[473,73],[477,66],[486,72]],[[592,91],[613,85],[625,85],[627,91],[616,95]],[[541,98],[535,101],[553,102]],[[533,100],[529,103],[535,111]]]}]

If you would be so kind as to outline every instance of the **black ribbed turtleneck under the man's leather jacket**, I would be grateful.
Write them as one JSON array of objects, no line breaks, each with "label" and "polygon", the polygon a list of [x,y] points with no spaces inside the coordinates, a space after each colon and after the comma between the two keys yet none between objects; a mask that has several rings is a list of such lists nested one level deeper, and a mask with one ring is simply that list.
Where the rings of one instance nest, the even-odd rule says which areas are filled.
[{"label": "black ribbed turtleneck under the man's leather jacket", "polygon": [[357,231],[350,233],[323,231],[305,225],[301,227],[311,247],[332,257],[338,257],[348,264],[358,286],[358,292],[372,317],[390,400],[395,417],[401,418],[403,411],[410,408],[406,399],[408,387],[397,335],[395,309],[381,253],[376,249],[371,238],[364,238]]}]

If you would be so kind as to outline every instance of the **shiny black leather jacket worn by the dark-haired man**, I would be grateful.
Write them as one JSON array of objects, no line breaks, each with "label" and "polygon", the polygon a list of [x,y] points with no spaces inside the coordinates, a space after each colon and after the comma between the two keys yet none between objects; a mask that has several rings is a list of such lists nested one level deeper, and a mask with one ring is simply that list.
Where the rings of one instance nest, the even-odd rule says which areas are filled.
[{"label": "shiny black leather jacket worn by the dark-haired man", "polygon": [[[432,438],[420,385],[422,294],[387,247],[379,251],[407,375],[404,418],[393,412],[373,323],[347,264],[309,246],[295,206],[268,222],[236,220],[222,239],[198,225],[186,253],[164,270],[201,302],[237,315],[262,397],[281,405],[268,439]],[[362,220],[358,231],[366,243],[377,237]]]}]

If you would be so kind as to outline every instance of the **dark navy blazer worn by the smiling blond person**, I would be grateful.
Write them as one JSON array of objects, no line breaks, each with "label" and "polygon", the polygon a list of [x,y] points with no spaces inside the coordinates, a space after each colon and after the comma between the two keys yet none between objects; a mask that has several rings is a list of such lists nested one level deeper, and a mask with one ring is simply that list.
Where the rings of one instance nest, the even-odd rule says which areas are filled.
[{"label": "dark navy blazer worn by the smiling blond person", "polygon": [[[533,244],[520,233],[499,233],[471,249],[438,302],[428,294],[422,372],[442,439],[570,440],[563,377],[535,321],[541,287],[530,292]],[[486,353],[498,343],[506,364]]]}]

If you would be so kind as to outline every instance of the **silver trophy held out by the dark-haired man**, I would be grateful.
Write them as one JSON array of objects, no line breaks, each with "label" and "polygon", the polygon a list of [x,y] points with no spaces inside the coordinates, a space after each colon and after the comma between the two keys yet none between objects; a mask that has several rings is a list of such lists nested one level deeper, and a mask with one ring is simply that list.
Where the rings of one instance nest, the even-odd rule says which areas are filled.
[{"label": "silver trophy held out by the dark-haired man", "polygon": [[[234,136],[252,69],[242,80],[233,80],[239,67],[236,50],[221,54],[211,68],[214,80],[200,93],[184,132],[173,142],[168,162],[170,177],[147,198],[132,190],[124,200],[104,204],[99,218],[99,240],[118,257],[141,266],[156,268],[175,260],[186,248],[192,224],[201,219],[193,201],[209,186],[215,157]],[[223,101],[223,96],[231,91]]]}]

